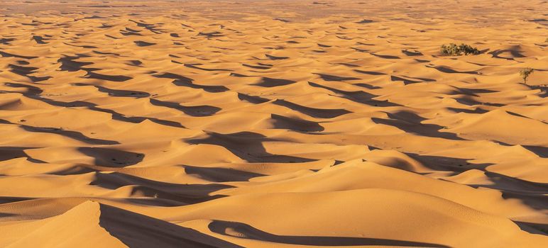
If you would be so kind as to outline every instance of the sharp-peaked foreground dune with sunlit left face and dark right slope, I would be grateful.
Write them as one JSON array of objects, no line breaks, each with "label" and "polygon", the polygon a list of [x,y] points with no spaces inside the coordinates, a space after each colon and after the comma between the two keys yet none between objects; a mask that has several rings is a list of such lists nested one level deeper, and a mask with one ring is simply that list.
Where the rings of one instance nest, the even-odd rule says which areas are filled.
[{"label": "sharp-peaked foreground dune with sunlit left face and dark right slope", "polygon": [[62,215],[9,228],[29,226],[35,229],[7,247],[240,247],[190,228],[94,201],[84,201]]}]

